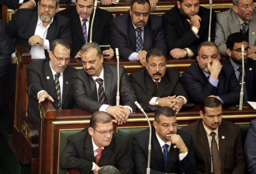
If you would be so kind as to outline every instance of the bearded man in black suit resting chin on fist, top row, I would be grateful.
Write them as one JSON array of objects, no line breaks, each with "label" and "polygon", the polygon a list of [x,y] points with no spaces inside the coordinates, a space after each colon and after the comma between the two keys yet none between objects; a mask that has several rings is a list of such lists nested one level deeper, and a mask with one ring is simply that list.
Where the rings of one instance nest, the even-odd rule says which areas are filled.
[{"label": "bearded man in black suit resting chin on fist, top row", "polygon": [[[214,11],[211,17],[210,37],[214,41]],[[173,58],[195,57],[198,46],[208,41],[210,10],[200,6],[199,0],[178,0],[162,18],[167,49]]]}]

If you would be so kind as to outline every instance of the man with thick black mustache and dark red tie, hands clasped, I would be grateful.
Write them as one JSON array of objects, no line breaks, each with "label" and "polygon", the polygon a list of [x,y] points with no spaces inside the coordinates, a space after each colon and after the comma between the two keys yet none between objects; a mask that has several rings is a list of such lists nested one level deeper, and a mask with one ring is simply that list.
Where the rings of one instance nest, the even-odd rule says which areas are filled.
[{"label": "man with thick black mustache and dark red tie, hands clasped", "polygon": [[152,49],[146,55],[145,68],[129,76],[131,85],[145,110],[155,111],[169,106],[176,111],[187,103],[187,93],[180,82],[179,72],[166,69],[165,54]]}]

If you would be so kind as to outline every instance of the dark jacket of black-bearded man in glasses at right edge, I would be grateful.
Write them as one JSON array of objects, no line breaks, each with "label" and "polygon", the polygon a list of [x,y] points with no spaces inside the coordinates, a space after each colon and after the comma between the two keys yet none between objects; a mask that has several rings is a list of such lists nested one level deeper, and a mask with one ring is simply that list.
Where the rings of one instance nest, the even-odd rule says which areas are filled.
[{"label": "dark jacket of black-bearded man in glasses at right edge", "polygon": [[[230,64],[230,58],[226,58],[222,64]],[[251,102],[256,102],[256,61],[248,58],[245,64],[245,77],[248,99]]]}]

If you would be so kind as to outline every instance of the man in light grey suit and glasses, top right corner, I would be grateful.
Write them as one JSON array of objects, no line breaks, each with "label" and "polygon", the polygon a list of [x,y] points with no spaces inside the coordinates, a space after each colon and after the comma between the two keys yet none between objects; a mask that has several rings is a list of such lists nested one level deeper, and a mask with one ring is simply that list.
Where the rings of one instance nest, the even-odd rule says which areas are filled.
[{"label": "man in light grey suit and glasses, top right corner", "polygon": [[215,43],[219,54],[227,55],[227,37],[236,32],[245,33],[249,38],[249,58],[256,59],[256,9],[253,0],[232,0],[233,7],[217,14]]}]

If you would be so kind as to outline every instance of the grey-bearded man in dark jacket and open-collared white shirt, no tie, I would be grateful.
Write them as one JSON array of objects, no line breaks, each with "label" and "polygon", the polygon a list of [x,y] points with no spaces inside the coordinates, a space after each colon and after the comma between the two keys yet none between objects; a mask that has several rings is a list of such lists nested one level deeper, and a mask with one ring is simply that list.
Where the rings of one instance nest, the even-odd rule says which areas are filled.
[{"label": "grey-bearded man in dark jacket and open-collared white shirt, no tie", "polygon": [[[38,9],[19,9],[7,24],[7,34],[15,39],[11,45],[25,45],[32,59],[48,58],[48,51],[55,39],[64,39],[72,46],[69,19],[56,14],[58,0],[39,0]],[[12,54],[15,61],[15,55]]]}]

